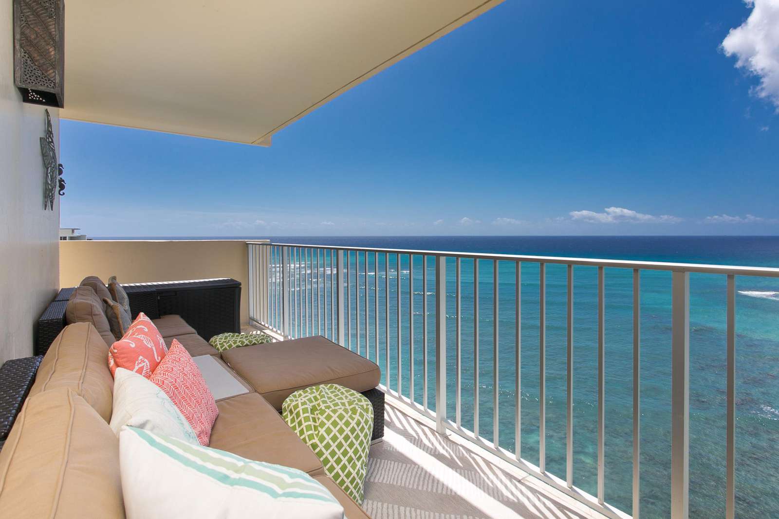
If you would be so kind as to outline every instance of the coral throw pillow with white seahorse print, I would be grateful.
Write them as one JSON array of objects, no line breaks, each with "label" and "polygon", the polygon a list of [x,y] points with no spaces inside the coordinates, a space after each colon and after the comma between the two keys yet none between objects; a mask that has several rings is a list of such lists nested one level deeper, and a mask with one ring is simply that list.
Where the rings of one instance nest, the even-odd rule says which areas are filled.
[{"label": "coral throw pillow with white seahorse print", "polygon": [[150,378],[166,353],[167,347],[160,331],[141,312],[125,335],[108,349],[108,368],[111,376],[116,373],[116,368],[123,367]]}]

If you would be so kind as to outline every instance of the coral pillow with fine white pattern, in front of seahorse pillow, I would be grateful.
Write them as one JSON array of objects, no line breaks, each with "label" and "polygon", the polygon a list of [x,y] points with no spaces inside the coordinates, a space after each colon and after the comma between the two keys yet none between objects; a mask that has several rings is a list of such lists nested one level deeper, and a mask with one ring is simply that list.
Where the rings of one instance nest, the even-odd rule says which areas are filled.
[{"label": "coral pillow with fine white pattern, in front of seahorse pillow", "polygon": [[171,399],[195,430],[200,444],[207,447],[219,409],[203,374],[178,340],[173,339],[171,349],[150,380]]}]

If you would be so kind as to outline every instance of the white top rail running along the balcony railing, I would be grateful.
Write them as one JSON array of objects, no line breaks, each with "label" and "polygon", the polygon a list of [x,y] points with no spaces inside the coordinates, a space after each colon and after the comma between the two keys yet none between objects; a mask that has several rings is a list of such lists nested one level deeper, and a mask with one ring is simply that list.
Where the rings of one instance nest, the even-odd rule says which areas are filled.
[{"label": "white top rail running along the balcony railing", "polygon": [[247,244],[276,247],[302,247],[310,249],[330,249],[333,251],[361,251],[389,254],[415,254],[426,256],[446,256],[447,258],[469,258],[499,261],[527,261],[530,263],[551,263],[558,265],[583,265],[590,267],[640,268],[646,270],[662,270],[669,272],[698,272],[702,274],[733,274],[757,275],[779,278],[779,268],[773,267],[743,267],[736,265],[705,265],[700,263],[670,263],[666,261],[631,261],[597,258],[565,258],[558,256],[526,256],[520,254],[490,254],[485,252],[453,252],[453,251],[418,251],[413,249],[386,249],[376,247],[347,247],[343,245],[312,245],[312,244],[275,244],[268,242],[249,241]]}]

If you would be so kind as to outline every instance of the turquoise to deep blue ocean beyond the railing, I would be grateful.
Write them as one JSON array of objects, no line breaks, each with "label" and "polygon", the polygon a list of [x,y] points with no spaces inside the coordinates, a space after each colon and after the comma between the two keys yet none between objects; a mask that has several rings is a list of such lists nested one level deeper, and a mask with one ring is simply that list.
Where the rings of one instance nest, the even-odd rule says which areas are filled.
[{"label": "turquoise to deep blue ocean beyond the railing", "polygon": [[[243,238],[243,237],[242,237]],[[191,239],[191,238],[190,238]],[[272,237],[274,243],[387,247],[435,251],[675,261],[779,267],[779,237]],[[384,263],[379,255],[379,359],[386,368]],[[354,255],[349,266],[354,275]],[[492,261],[479,265],[479,433],[492,440],[494,384],[499,387],[499,443],[514,451],[514,266],[499,264],[499,377],[493,370]],[[359,255],[361,349],[365,352],[365,258]],[[400,270],[401,365],[408,394],[408,258],[390,258],[390,387],[397,387],[397,271]],[[414,395],[422,402],[422,298],[428,297],[428,405],[435,409],[435,270],[414,257]],[[375,266],[368,254],[368,300],[374,311]],[[324,270],[323,270],[324,272]],[[329,270],[327,271],[329,272]],[[538,465],[538,265],[522,266],[522,457]],[[351,278],[351,346],[356,348],[357,293]],[[690,276],[690,517],[724,517],[725,492],[725,284],[724,275]],[[454,419],[455,285],[447,268],[447,414]],[[736,515],[779,517],[779,279],[736,278]],[[566,267],[546,272],[546,468],[566,475]],[[461,276],[462,426],[474,423],[473,261]],[[597,268],[574,268],[573,454],[574,485],[597,489]],[[373,323],[368,356],[375,359]],[[330,336],[330,330],[326,331]],[[605,499],[631,511],[633,449],[633,281],[629,269],[605,270]],[[383,375],[382,375],[383,382]],[[642,517],[670,516],[671,273],[641,275],[641,493]]]}]

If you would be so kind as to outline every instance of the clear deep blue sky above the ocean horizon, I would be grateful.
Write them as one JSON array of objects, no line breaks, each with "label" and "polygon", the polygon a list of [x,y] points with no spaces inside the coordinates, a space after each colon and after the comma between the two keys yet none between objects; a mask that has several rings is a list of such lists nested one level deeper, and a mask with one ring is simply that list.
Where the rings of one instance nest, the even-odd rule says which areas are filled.
[{"label": "clear deep blue sky above the ocean horizon", "polygon": [[779,0],[506,0],[270,148],[62,121],[62,226],[776,234],[779,36],[755,29],[772,21]]}]

